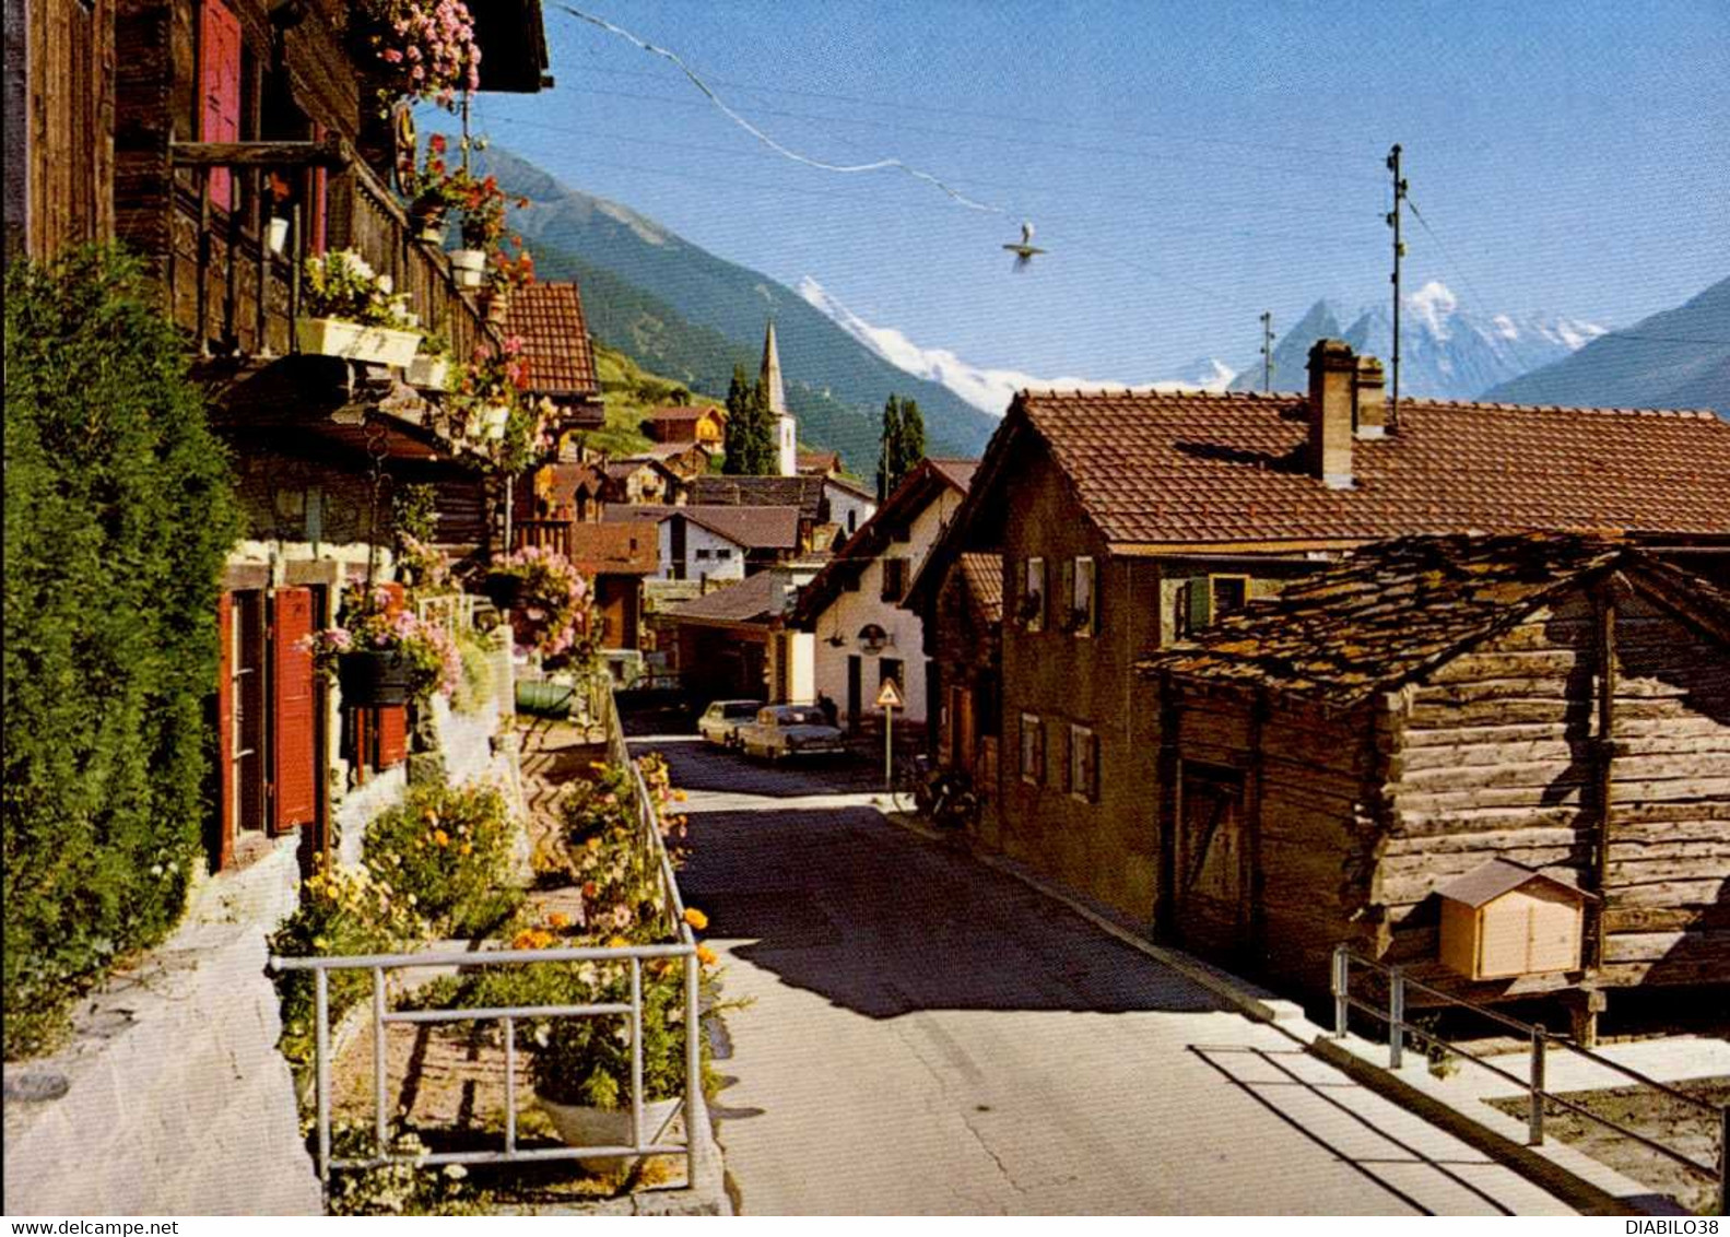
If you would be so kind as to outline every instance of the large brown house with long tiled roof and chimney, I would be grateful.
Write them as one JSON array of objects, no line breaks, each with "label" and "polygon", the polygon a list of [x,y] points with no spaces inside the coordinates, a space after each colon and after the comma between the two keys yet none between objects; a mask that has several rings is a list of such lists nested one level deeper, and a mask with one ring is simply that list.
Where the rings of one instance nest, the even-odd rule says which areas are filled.
[{"label": "large brown house with long tiled roof and chimney", "polygon": [[1002,555],[981,843],[1152,926],[1169,787],[1131,666],[1370,542],[1531,529],[1619,533],[1721,580],[1730,424],[1429,400],[1394,417],[1381,365],[1337,341],[1311,349],[1308,396],[1021,393],[908,599],[929,616],[960,555]]}]

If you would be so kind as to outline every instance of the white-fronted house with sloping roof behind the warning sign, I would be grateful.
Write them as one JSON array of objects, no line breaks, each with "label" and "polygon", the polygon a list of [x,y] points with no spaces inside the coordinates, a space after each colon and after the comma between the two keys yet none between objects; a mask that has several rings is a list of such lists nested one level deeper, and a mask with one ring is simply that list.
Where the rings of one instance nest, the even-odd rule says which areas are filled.
[{"label": "white-fronted house with sloping roof behind the warning sign", "polygon": [[780,656],[811,663],[820,695],[836,701],[849,730],[870,716],[881,683],[901,689],[905,718],[922,727],[931,702],[941,701],[936,663],[926,657],[920,619],[901,607],[926,555],[955,517],[976,460],[924,460],[829,566],[799,593]]}]

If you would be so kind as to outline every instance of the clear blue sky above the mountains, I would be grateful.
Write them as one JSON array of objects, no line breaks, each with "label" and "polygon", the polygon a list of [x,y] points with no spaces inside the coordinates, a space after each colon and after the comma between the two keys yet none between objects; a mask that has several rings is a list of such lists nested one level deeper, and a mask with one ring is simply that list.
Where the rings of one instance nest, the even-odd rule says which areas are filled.
[{"label": "clear blue sky above the mountains", "polygon": [[[483,0],[484,2],[484,0]],[[1730,273],[1730,3],[548,5],[557,88],[477,128],[561,180],[976,365],[1116,381],[1244,362],[1272,310],[1387,294],[1387,147],[1410,287],[1630,325]],[[1012,275],[1029,218],[1052,249]]]}]

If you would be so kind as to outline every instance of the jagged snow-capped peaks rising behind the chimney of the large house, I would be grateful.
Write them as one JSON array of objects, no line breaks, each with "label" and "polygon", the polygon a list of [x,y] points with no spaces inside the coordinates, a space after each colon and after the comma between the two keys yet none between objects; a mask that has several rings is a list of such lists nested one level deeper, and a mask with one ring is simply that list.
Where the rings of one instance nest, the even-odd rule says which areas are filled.
[{"label": "jagged snow-capped peaks rising behind the chimney of the large house", "polygon": [[[1344,339],[1360,355],[1393,356],[1393,310],[1365,306],[1341,327],[1346,315],[1330,301],[1317,301],[1296,327],[1280,337],[1273,353],[1273,388],[1299,391],[1308,382],[1310,346],[1323,336]],[[1424,284],[1403,301],[1400,318],[1400,393],[1438,400],[1476,400],[1490,388],[1550,365],[1605,332],[1593,322],[1555,315],[1483,317],[1460,308],[1460,298],[1438,280]],[[1232,384],[1251,391],[1261,386],[1259,360],[1246,365]]]}]

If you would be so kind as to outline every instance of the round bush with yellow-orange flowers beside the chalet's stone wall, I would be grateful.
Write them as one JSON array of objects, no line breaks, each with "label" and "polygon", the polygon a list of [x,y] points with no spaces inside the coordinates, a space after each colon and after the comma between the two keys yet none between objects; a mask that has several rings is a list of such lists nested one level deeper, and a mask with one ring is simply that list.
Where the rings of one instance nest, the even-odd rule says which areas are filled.
[{"label": "round bush with yellow-orange flowers beside the chalet's stone wall", "polygon": [[367,868],[434,931],[479,936],[521,901],[510,844],[510,808],[497,787],[422,785],[367,824]]}]

